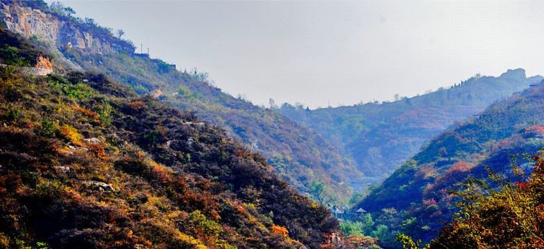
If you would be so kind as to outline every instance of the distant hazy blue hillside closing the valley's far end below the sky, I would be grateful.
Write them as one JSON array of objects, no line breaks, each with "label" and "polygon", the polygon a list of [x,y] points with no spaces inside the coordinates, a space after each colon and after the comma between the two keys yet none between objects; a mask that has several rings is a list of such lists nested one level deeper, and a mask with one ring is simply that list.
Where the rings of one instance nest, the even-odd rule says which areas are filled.
[{"label": "distant hazy blue hillside closing the valley's far end below the sky", "polygon": [[466,120],[496,100],[542,79],[526,77],[525,70],[519,68],[500,77],[478,75],[450,89],[396,102],[316,110],[283,104],[275,111],[316,129],[343,155],[355,160],[366,176],[383,178],[457,120]]}]

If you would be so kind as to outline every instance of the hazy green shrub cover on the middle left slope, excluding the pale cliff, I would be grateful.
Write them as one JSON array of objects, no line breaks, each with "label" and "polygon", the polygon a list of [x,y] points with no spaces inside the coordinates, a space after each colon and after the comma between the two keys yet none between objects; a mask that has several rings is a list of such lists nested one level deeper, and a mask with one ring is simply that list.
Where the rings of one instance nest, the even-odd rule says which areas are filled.
[{"label": "hazy green shrub cover on the middle left slope, excluding the pale cliff", "polygon": [[[63,14],[60,11],[55,15]],[[362,177],[355,166],[344,160],[316,131],[274,111],[222,93],[209,83],[207,73],[198,73],[196,69],[189,73],[176,71],[160,59],[149,59],[129,50],[103,55],[78,48],[61,50],[65,57],[85,70],[105,73],[117,82],[132,86],[137,93],[160,89],[161,100],[194,111],[203,120],[226,129],[229,136],[267,158],[281,178],[314,198],[316,193],[309,188],[312,183],[327,183],[325,200],[332,201],[349,197],[351,190],[343,185],[347,179]]]}]

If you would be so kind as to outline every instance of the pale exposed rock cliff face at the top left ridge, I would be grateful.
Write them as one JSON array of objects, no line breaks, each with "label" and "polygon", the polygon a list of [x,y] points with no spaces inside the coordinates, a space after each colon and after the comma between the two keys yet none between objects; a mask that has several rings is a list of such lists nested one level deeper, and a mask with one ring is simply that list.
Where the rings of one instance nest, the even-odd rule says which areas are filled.
[{"label": "pale exposed rock cliff face at the top left ridge", "polygon": [[74,48],[94,52],[110,53],[116,50],[130,50],[126,44],[117,44],[103,37],[94,37],[92,33],[74,26],[71,21],[59,19],[55,15],[17,3],[0,3],[0,19],[6,27],[26,37],[35,35],[39,39],[52,42],[58,48],[64,48],[69,42]]}]

